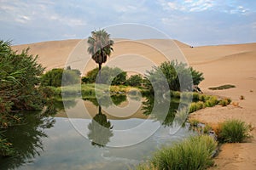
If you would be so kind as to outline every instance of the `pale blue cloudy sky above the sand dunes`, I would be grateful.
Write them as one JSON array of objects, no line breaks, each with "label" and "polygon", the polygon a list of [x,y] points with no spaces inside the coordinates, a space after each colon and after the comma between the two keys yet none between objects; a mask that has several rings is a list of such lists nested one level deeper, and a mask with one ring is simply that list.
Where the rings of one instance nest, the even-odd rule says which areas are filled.
[{"label": "pale blue cloudy sky above the sand dunes", "polygon": [[86,38],[124,23],[192,46],[256,42],[256,1],[0,0],[0,39],[14,45]]}]

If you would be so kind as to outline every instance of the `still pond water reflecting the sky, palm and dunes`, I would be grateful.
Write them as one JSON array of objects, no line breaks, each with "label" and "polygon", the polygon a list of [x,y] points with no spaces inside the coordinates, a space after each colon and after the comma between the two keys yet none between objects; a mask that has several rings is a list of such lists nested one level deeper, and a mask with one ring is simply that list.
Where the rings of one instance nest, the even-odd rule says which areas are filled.
[{"label": "still pond water reflecting the sky, palm and dunes", "polygon": [[[4,133],[19,154],[1,159],[0,169],[133,169],[154,150],[193,134],[186,126],[170,133],[170,118],[148,116],[147,104],[142,105],[146,99],[128,96],[120,100],[113,103],[123,108],[128,103],[131,108],[140,106],[132,114],[117,116],[111,114],[111,105],[100,107],[94,99],[79,99],[55,116],[27,113],[25,124]],[[152,127],[157,129],[148,133],[154,131]],[[136,130],[127,133],[127,129]]]}]

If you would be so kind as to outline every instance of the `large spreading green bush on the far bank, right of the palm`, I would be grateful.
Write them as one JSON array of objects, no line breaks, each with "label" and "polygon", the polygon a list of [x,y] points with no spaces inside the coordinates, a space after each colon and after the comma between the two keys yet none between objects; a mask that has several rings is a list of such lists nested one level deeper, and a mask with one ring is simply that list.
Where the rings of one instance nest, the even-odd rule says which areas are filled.
[{"label": "large spreading green bush on the far bank, right of the palm", "polygon": [[166,80],[169,89],[172,91],[180,91],[183,84],[183,90],[192,90],[192,85],[198,85],[204,77],[199,71],[195,71],[192,67],[188,67],[184,63],[178,63],[177,60],[171,62],[164,62],[159,66],[154,66],[153,70],[147,71],[145,78],[145,86],[150,92],[153,92],[152,84],[157,85],[158,89],[162,89],[161,84]]}]

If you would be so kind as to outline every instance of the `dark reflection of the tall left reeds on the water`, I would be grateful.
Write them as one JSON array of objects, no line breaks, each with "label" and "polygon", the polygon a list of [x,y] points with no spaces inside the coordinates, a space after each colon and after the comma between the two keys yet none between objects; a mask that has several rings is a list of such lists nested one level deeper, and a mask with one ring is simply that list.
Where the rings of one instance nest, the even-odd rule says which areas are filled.
[{"label": "dark reflection of the tall left reeds on the water", "polygon": [[3,132],[3,136],[13,144],[16,155],[0,158],[1,169],[14,169],[30,163],[44,151],[42,139],[47,138],[44,129],[53,127],[55,119],[35,112],[26,112],[25,115],[24,124],[10,127]]}]

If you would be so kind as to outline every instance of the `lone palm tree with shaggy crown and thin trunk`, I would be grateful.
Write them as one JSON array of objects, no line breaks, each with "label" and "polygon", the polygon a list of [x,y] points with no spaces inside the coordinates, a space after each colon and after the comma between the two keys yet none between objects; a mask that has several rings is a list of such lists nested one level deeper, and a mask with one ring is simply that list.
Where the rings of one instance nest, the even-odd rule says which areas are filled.
[{"label": "lone palm tree with shaggy crown and thin trunk", "polygon": [[107,61],[107,57],[113,51],[113,40],[110,39],[110,34],[102,29],[91,31],[91,37],[88,37],[87,43],[89,44],[88,53],[91,54],[91,58],[99,65],[99,79],[101,81],[102,63]]}]

